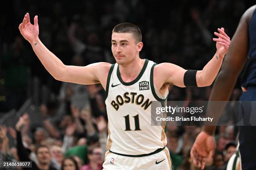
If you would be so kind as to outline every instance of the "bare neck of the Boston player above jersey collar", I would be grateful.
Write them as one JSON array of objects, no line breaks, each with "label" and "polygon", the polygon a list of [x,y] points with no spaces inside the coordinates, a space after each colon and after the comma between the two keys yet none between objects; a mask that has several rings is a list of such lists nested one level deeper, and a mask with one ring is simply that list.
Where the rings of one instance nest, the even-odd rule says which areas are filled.
[{"label": "bare neck of the Boston player above jersey collar", "polygon": [[124,82],[131,82],[140,74],[146,60],[139,57],[126,65],[119,65],[120,75]]}]

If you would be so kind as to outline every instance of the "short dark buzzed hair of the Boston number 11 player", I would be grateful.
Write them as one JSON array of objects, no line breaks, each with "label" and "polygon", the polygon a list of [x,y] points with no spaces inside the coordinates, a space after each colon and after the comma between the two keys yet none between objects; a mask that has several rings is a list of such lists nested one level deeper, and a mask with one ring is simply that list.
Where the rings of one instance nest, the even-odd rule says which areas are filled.
[{"label": "short dark buzzed hair of the Boston number 11 player", "polygon": [[138,28],[136,25],[132,23],[120,23],[118,25],[115,25],[112,32],[132,33],[136,42],[141,42],[142,40],[140,28]]}]

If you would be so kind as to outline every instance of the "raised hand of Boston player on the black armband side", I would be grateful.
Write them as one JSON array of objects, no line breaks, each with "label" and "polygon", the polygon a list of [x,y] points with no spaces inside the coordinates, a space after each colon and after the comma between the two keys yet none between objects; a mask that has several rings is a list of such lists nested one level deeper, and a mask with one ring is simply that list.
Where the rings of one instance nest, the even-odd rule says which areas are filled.
[{"label": "raised hand of Boston player on the black armband side", "polygon": [[224,55],[228,52],[228,47],[230,45],[230,37],[224,32],[224,28],[218,28],[218,32],[214,32],[214,35],[218,36],[218,38],[213,38],[216,41],[216,48],[218,57],[224,57]]}]

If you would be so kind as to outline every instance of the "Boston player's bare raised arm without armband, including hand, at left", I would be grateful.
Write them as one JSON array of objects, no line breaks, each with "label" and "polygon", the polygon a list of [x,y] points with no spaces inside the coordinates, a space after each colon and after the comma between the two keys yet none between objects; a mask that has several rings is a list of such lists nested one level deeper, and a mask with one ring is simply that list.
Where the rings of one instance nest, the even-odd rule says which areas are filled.
[{"label": "Boston player's bare raised arm without armband, including hand, at left", "polygon": [[[49,51],[40,41],[38,16],[34,18],[34,25],[30,23],[29,14],[23,18],[19,25],[21,35],[30,42],[34,52],[42,62],[46,70],[56,79],[64,82],[73,82],[78,84],[95,84],[102,83],[105,87],[104,80],[110,69],[110,64],[106,62],[94,63],[85,67],[64,65],[58,57]],[[103,81],[103,82],[102,82]]]}]

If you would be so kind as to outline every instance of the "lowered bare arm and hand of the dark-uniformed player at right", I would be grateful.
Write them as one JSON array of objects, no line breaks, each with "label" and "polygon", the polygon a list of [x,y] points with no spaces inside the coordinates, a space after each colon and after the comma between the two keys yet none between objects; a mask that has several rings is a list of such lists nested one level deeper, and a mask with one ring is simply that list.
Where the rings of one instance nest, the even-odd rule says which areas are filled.
[{"label": "lowered bare arm and hand of the dark-uniformed player at right", "polygon": [[[255,7],[256,5],[250,7],[241,17],[238,28],[230,42],[230,48],[225,61],[213,85],[209,100],[225,101],[230,98],[237,77],[247,60],[249,41],[248,25]],[[218,103],[218,107],[216,107],[214,102],[209,102],[206,116],[215,117],[214,120],[216,122],[224,107],[225,104],[220,105],[220,103]],[[197,136],[191,149],[190,154],[194,160],[194,164],[201,167],[201,169],[205,167],[206,158],[210,160],[213,158],[216,148],[213,137],[215,128],[216,126],[203,126],[202,132]]]}]

